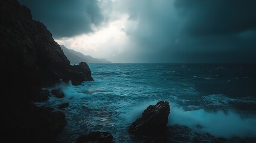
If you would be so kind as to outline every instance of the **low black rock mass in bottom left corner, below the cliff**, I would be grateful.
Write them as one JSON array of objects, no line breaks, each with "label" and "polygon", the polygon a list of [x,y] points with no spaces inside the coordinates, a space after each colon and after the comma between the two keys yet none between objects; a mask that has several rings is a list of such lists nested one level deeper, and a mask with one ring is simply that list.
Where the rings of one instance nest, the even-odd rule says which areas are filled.
[{"label": "low black rock mass in bottom left corner, below the cliff", "polygon": [[66,125],[65,115],[50,107],[17,102],[8,108],[14,109],[2,111],[1,142],[55,142]]}]

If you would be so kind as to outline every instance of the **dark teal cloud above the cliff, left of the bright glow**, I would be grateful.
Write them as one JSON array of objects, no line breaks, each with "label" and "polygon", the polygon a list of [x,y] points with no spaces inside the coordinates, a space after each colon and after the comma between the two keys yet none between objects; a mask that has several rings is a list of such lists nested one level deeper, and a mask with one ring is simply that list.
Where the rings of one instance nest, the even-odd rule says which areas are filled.
[{"label": "dark teal cloud above the cliff, left of the bright glow", "polygon": [[104,20],[97,0],[18,0],[32,11],[33,18],[44,23],[54,38],[93,32],[92,25]]}]

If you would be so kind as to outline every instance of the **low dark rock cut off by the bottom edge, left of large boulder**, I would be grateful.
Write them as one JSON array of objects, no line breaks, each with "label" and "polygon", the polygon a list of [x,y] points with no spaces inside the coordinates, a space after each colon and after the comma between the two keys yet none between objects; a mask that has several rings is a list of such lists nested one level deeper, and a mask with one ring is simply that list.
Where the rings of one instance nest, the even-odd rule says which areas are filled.
[{"label": "low dark rock cut off by the bottom edge, left of large boulder", "polygon": [[76,142],[97,142],[97,143],[111,143],[113,142],[113,136],[108,132],[91,132],[89,135],[80,136]]}]

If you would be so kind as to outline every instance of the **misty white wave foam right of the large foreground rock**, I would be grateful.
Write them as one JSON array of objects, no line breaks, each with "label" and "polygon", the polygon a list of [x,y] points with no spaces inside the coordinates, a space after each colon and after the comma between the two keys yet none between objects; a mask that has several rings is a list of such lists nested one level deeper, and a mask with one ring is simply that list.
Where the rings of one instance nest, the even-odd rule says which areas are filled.
[{"label": "misty white wave foam right of the large foreground rock", "polygon": [[[242,119],[239,114],[229,111],[210,113],[205,110],[184,111],[172,107],[168,125],[183,125],[195,130],[224,138],[256,136],[256,118]],[[197,128],[200,125],[202,128]]]}]

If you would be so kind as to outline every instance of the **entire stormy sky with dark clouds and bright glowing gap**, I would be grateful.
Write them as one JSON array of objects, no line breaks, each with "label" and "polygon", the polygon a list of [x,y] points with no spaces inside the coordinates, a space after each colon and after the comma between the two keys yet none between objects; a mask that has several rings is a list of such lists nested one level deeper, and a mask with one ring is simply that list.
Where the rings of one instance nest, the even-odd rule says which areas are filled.
[{"label": "entire stormy sky with dark clouds and bright glowing gap", "polygon": [[113,63],[256,63],[255,0],[18,0],[60,45]]}]

